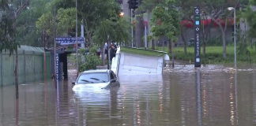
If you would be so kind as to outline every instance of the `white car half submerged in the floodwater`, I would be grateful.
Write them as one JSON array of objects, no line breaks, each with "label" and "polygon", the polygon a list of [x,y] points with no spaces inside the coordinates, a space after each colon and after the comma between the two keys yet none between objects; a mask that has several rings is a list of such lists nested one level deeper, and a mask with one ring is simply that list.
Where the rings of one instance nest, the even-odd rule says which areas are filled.
[{"label": "white car half submerged in the floodwater", "polygon": [[[115,73],[108,69],[89,70],[81,72],[77,77],[73,90],[85,88],[85,90],[99,88],[109,89],[111,87],[119,87],[120,83]],[[87,89],[86,89],[87,88]]]}]

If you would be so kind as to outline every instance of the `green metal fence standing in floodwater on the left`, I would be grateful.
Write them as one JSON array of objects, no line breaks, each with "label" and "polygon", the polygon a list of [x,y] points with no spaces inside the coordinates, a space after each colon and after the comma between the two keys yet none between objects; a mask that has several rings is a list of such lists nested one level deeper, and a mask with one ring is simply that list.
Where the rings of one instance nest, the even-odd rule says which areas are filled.
[{"label": "green metal fence standing in floodwater on the left", "polygon": [[[18,81],[28,83],[43,80],[43,48],[32,46],[21,46],[18,50]],[[47,78],[50,74],[50,54],[46,54]],[[14,84],[15,54],[9,52],[0,53],[0,86]]]}]

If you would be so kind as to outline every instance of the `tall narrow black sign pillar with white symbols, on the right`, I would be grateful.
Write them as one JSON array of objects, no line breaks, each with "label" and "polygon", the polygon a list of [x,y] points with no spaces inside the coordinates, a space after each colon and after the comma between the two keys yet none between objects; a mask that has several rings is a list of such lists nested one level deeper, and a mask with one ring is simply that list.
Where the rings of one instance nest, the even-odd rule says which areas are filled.
[{"label": "tall narrow black sign pillar with white symbols, on the right", "polygon": [[194,7],[194,67],[201,67],[200,9]]}]

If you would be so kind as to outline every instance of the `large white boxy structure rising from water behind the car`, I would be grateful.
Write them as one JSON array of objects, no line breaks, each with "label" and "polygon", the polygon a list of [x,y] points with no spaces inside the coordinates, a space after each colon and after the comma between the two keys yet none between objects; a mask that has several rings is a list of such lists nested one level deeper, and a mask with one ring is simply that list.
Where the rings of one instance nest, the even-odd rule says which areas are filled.
[{"label": "large white boxy structure rising from water behind the car", "polygon": [[[141,50],[141,49],[134,49]],[[145,50],[152,51],[152,50]],[[170,60],[165,52],[164,56],[144,56],[122,52],[118,48],[116,56],[112,59],[111,70],[116,75],[158,75],[163,73],[164,61]]]}]

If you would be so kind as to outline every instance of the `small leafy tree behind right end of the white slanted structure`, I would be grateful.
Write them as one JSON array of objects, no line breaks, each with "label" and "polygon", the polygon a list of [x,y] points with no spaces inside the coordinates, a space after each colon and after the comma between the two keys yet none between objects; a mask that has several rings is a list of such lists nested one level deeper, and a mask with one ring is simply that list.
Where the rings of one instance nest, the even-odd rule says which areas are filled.
[{"label": "small leafy tree behind right end of the white slanted structure", "polygon": [[[169,44],[169,51],[172,55],[172,67],[174,67],[174,43],[177,42],[177,36],[179,32],[179,12],[173,6],[172,0],[166,1],[166,6],[158,5],[152,10],[152,33],[154,36],[160,37],[165,35],[168,39],[171,39]],[[156,24],[157,20],[161,21],[161,24]]]}]

